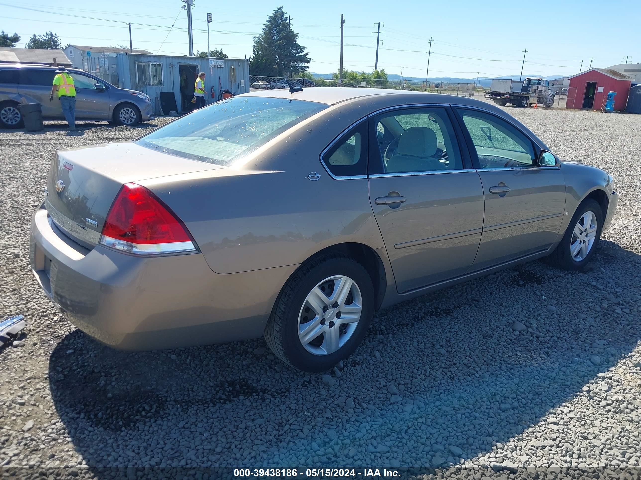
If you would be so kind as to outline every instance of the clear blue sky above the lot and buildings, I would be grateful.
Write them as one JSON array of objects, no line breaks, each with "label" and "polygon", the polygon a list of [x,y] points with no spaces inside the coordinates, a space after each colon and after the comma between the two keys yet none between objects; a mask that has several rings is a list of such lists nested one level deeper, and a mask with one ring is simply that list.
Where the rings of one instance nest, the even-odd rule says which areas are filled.
[{"label": "clear blue sky above the lot and buildings", "polygon": [[[110,47],[129,44],[124,22],[131,22],[133,47],[187,54],[187,14],[180,9],[180,0],[54,4],[0,0],[0,29],[19,33],[19,47],[24,47],[33,33],[49,29],[58,33],[63,45]],[[519,74],[526,48],[524,74],[575,74],[581,60],[585,69],[590,58],[594,58],[593,67],[623,63],[626,55],[628,61],[641,61],[638,28],[633,26],[641,18],[638,2],[252,1],[234,8],[237,4],[196,0],[192,10],[194,49],[207,48],[205,19],[211,12],[212,49],[222,48],[230,57],[249,57],[252,37],[260,32],[267,15],[282,4],[300,35],[299,43],[310,53],[310,70],[314,72],[338,69],[341,13],[345,15],[344,65],[351,70],[374,67],[377,22],[383,22],[381,31],[385,32],[381,33],[379,68],[400,74],[403,67],[403,76],[425,75],[430,36],[434,39],[430,77],[476,77],[476,72],[481,77]],[[617,18],[619,12],[626,12],[622,19]],[[520,20],[515,20],[515,13]]]}]

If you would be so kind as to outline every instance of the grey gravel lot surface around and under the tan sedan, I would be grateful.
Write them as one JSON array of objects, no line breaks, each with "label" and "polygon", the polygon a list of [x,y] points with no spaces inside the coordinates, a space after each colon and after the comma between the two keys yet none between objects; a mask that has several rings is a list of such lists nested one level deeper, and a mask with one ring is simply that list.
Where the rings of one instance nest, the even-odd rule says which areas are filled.
[{"label": "grey gravel lot surface around and under the tan sedan", "polygon": [[167,119],[0,131],[0,319],[28,319],[0,349],[3,474],[387,465],[419,467],[406,477],[639,477],[641,116],[505,109],[562,158],[615,178],[619,214],[590,269],[533,262],[379,312],[324,376],[283,365],[263,339],[125,353],[72,328],[28,262],[54,150]]}]

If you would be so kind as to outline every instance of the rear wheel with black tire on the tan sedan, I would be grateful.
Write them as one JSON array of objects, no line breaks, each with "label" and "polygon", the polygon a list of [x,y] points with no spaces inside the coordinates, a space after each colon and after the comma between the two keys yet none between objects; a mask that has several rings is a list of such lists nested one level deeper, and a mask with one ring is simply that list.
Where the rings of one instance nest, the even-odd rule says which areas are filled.
[{"label": "rear wheel with black tire on the tan sedan", "polygon": [[373,314],[367,270],[328,253],[303,264],[288,280],[265,326],[265,340],[283,362],[322,372],[353,353]]}]

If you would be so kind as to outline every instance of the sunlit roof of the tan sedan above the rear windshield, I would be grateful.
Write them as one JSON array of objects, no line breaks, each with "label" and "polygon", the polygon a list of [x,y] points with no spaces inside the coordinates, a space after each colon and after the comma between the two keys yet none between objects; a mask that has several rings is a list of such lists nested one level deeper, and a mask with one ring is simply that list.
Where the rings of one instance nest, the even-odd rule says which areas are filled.
[{"label": "sunlit roof of the tan sedan above the rear windshield", "polygon": [[254,97],[271,97],[276,99],[307,100],[308,102],[319,102],[328,105],[335,105],[346,100],[362,97],[373,97],[375,95],[403,95],[403,94],[435,95],[439,99],[431,98],[431,101],[440,101],[442,95],[435,93],[410,92],[408,90],[386,90],[385,88],[344,88],[344,87],[317,87],[305,88],[302,92],[289,93],[289,90],[263,90],[262,92],[245,93]]}]

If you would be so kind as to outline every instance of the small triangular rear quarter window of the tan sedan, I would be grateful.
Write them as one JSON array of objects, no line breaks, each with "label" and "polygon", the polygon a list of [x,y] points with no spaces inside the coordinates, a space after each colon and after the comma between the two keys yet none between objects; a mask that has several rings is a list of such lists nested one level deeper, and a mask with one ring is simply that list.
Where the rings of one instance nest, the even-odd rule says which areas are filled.
[{"label": "small triangular rear quarter window of the tan sedan", "polygon": [[335,177],[353,177],[367,173],[367,120],[350,129],[322,156],[326,168]]}]

